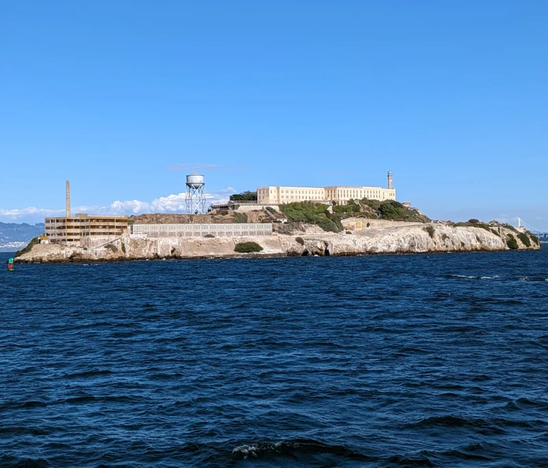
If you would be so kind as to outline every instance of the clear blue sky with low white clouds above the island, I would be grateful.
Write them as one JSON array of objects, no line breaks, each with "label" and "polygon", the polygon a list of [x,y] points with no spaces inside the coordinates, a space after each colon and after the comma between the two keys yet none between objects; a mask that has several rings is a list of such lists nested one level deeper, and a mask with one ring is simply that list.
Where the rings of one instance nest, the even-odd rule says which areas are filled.
[{"label": "clear blue sky with low white clouds above the island", "polygon": [[[545,1],[28,1],[0,15],[0,220],[385,185],[548,229]],[[119,204],[113,203],[118,201]]]}]

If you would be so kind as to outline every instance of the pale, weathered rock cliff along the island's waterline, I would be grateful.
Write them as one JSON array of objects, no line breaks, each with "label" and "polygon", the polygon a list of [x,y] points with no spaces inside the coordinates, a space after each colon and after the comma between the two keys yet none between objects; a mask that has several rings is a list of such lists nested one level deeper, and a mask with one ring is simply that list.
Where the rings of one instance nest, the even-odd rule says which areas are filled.
[{"label": "pale, weathered rock cliff along the island's waterline", "polygon": [[[316,227],[316,226],[314,226]],[[130,239],[123,237],[101,248],[69,247],[55,244],[36,245],[18,257],[19,262],[102,261],[130,259],[197,257],[268,257],[286,255],[362,255],[383,253],[434,253],[508,250],[508,235],[514,235],[519,250],[525,250],[516,233],[507,228],[496,232],[479,227],[453,227],[445,224],[397,224],[376,229],[325,233],[310,229],[298,235],[275,234],[261,237],[190,237]],[[297,237],[302,242],[297,242]],[[238,242],[253,241],[264,250],[255,254],[238,254]],[[530,249],[538,249],[531,242]]]}]

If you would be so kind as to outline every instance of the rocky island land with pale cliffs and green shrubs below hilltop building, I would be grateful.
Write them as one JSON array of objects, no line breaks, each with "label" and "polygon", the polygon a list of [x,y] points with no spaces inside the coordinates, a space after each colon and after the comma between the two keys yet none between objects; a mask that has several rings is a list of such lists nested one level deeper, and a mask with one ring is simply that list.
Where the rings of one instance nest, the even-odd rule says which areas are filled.
[{"label": "rocky island land with pale cliffs and green shrubs below hilltop building", "polygon": [[[74,224],[65,224],[65,238],[74,229],[81,231],[80,237],[75,235],[71,242],[63,242],[63,237],[55,238],[55,235],[36,237],[16,254],[15,261],[49,263],[540,249],[538,238],[523,228],[496,221],[433,221],[418,209],[395,200],[351,200],[338,206],[308,201],[262,207],[233,204],[203,215],[159,213],[134,215],[125,221],[121,218],[105,220],[106,217],[90,221],[91,217],[86,216],[76,215],[71,218],[75,220]],[[90,225],[94,222],[97,235],[90,235],[94,234],[90,233]],[[116,225],[116,231],[109,231],[112,223]],[[60,232],[59,226],[50,229],[51,233]]]}]

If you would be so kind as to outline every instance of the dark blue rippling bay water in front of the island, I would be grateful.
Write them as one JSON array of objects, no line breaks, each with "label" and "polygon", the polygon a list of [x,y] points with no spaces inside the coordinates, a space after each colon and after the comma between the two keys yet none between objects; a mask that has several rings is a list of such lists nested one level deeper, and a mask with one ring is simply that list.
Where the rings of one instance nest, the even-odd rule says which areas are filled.
[{"label": "dark blue rippling bay water in front of the island", "polygon": [[547,466],[547,260],[17,265],[0,466]]}]

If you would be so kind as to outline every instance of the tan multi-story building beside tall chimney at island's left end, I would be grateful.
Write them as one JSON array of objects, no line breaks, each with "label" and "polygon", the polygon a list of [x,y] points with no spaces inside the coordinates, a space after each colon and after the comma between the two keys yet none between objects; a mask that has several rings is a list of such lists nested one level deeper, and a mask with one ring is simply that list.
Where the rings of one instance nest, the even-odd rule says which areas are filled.
[{"label": "tan multi-story building beside tall chimney at island's left end", "polygon": [[94,244],[93,238],[116,239],[127,235],[127,216],[88,216],[45,219],[45,233],[52,244],[72,246]]}]

